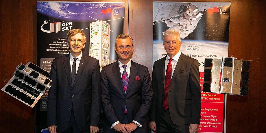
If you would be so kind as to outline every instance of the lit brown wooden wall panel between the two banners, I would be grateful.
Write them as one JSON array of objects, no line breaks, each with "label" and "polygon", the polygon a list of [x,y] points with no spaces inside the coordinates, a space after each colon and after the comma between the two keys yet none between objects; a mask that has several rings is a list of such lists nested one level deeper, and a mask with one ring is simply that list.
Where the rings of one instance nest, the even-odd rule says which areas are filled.
[{"label": "lit brown wooden wall panel between the two banners", "polygon": [[153,1],[130,0],[128,34],[134,40],[132,60],[149,68],[152,76]]}]

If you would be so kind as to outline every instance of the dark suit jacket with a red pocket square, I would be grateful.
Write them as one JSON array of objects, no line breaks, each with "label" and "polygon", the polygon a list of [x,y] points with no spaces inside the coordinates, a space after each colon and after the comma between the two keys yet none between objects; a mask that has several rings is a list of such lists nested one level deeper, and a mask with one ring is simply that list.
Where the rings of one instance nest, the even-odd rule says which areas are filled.
[{"label": "dark suit jacket with a red pocket square", "polygon": [[[135,132],[149,132],[147,115],[152,104],[152,85],[146,66],[131,62],[127,92],[125,94],[118,61],[101,70],[102,108],[105,114],[104,132],[111,132],[111,125],[123,122],[124,108],[127,106],[128,121],[139,122]],[[139,76],[140,80],[135,80]]]}]

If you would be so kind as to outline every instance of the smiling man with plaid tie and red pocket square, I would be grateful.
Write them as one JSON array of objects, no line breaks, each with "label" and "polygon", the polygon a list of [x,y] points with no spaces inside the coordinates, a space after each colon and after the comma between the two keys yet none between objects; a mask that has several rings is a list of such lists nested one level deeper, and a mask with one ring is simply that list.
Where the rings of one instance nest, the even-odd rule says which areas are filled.
[{"label": "smiling man with plaid tie and red pocket square", "polygon": [[118,35],[115,40],[118,61],[102,68],[104,133],[149,132],[151,78],[146,66],[130,59],[133,47],[128,34]]}]

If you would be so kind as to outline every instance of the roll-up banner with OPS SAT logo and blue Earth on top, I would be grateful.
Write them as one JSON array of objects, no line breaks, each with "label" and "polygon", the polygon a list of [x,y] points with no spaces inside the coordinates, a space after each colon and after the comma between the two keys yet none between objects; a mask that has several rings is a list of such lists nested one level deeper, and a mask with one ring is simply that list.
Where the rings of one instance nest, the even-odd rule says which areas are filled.
[{"label": "roll-up banner with OPS SAT logo and blue Earth on top", "polygon": [[[123,27],[124,3],[37,1],[37,65],[50,72],[54,58],[69,54],[66,34],[71,29],[86,36],[83,54],[98,59],[100,66],[110,64],[117,60],[115,37]],[[36,104],[35,132],[47,131],[47,95]]]}]

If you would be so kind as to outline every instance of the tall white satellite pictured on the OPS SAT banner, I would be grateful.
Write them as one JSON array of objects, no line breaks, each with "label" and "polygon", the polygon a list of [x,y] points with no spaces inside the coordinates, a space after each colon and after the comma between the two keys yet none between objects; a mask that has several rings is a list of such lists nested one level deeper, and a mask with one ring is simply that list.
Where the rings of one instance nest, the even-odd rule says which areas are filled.
[{"label": "tall white satellite pictured on the OPS SAT banner", "polygon": [[90,56],[100,62],[100,67],[109,64],[110,24],[104,21],[90,23]]}]

